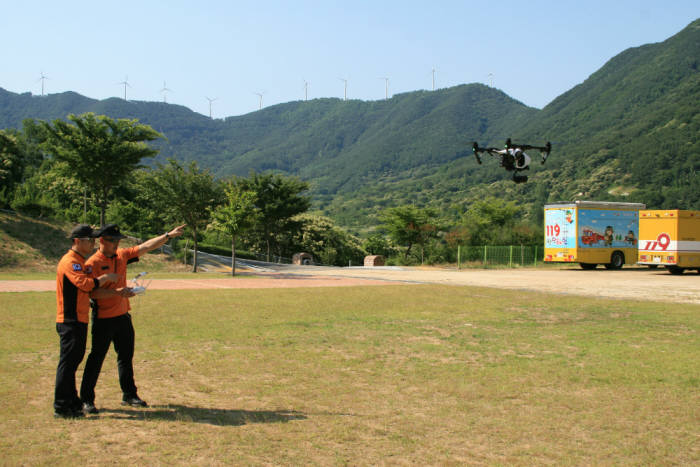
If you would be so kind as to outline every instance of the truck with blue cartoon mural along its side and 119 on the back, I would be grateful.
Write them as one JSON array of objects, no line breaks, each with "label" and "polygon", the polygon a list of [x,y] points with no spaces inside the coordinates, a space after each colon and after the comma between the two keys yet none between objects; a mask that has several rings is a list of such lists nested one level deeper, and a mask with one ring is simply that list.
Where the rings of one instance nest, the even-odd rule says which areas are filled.
[{"label": "truck with blue cartoon mural along its side and 119 on the back", "polygon": [[637,262],[640,203],[574,201],[544,207],[545,262],[620,269]]}]

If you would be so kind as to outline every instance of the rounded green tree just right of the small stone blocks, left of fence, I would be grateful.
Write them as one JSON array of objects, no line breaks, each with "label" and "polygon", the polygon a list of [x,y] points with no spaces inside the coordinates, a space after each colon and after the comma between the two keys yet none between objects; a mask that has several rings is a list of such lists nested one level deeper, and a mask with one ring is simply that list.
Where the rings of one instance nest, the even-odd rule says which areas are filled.
[{"label": "rounded green tree just right of the small stone blocks, left of fence", "polygon": [[421,249],[421,264],[424,261],[425,245],[431,238],[437,237],[438,226],[436,214],[432,209],[420,209],[415,206],[399,206],[388,209],[381,216],[383,228],[397,244],[406,247],[404,258],[408,258],[413,245]]}]

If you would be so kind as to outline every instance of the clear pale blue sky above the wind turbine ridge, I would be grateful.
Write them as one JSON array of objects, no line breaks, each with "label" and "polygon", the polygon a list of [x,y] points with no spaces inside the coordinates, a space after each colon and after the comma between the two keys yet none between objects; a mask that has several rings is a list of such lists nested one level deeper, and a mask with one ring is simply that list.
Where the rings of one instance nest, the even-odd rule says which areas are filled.
[{"label": "clear pale blue sky above the wind turbine ridge", "polygon": [[308,99],[493,84],[544,107],[695,1],[33,1],[2,6],[0,87],[167,102],[214,118]]}]

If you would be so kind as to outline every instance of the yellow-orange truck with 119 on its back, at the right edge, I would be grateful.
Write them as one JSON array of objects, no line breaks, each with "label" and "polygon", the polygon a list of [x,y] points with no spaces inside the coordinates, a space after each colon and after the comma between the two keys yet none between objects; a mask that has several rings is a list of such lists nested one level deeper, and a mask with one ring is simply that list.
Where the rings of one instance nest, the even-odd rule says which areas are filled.
[{"label": "yellow-orange truck with 119 on its back, at the right edge", "polygon": [[700,272],[700,211],[640,211],[639,264]]}]

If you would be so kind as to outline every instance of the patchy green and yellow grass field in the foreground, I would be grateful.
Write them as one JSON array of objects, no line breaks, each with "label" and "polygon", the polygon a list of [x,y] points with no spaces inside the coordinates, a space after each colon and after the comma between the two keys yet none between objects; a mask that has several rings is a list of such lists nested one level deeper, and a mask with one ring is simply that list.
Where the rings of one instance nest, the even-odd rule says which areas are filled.
[{"label": "patchy green and yellow grass field in the foreground", "polygon": [[101,413],[72,421],[52,417],[54,294],[0,294],[0,310],[2,464],[700,462],[700,306],[437,285],[153,291],[132,310],[151,407],[119,404],[110,351]]}]

